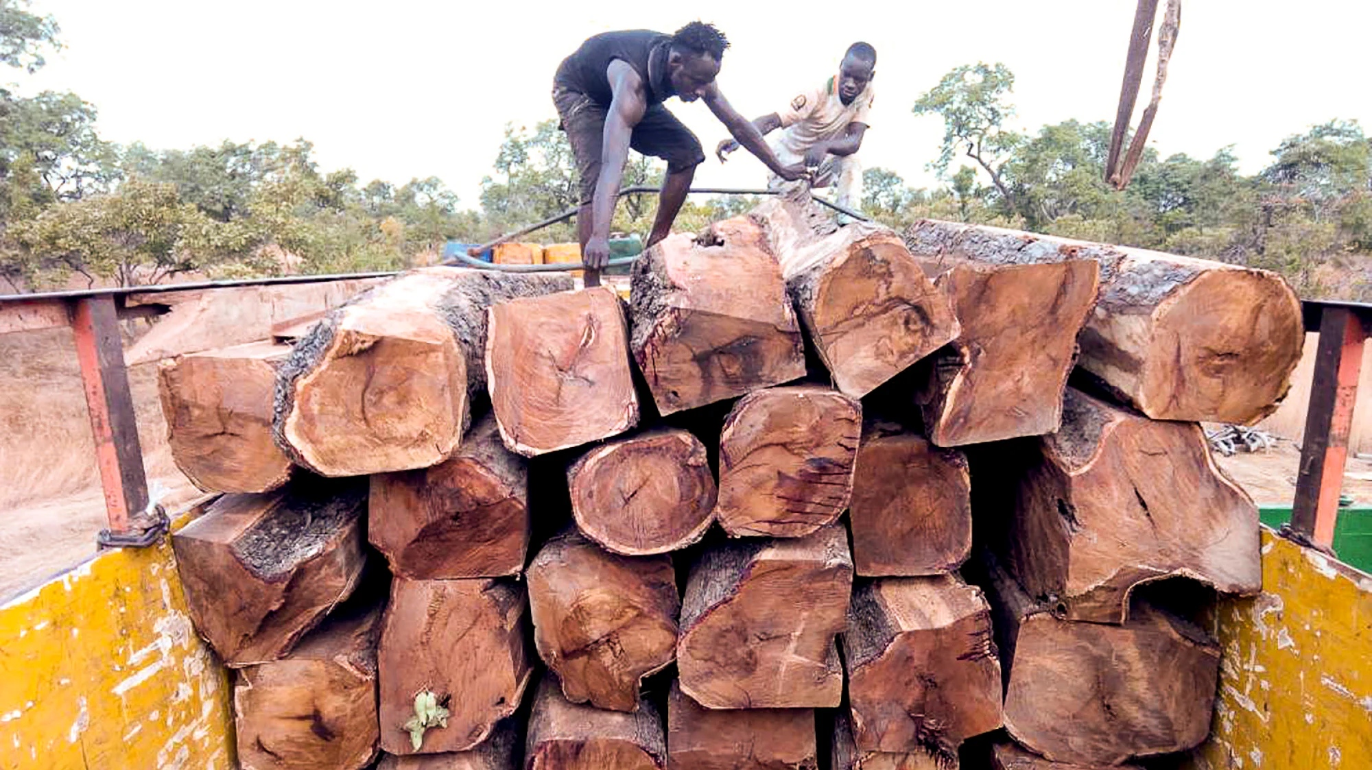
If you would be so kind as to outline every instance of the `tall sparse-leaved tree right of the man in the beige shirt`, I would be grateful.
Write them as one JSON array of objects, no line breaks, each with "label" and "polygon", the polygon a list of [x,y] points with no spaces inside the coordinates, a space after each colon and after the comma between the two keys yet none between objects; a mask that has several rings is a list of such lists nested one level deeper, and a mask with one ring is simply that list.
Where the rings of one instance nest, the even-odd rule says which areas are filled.
[{"label": "tall sparse-leaved tree right of the man in the beige shirt", "polygon": [[1018,204],[1002,179],[1002,167],[1021,144],[1021,137],[1006,127],[1015,114],[1008,103],[1014,85],[1015,75],[1004,64],[963,64],[945,74],[914,107],[915,115],[938,115],[944,121],[938,159],[930,166],[947,174],[960,149],[991,177],[1011,212]]}]

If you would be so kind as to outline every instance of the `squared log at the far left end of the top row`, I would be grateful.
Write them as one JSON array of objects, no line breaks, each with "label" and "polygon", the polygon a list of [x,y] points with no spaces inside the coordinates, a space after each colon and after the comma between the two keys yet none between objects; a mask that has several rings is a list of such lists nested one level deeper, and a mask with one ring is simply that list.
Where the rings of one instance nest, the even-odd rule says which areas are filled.
[{"label": "squared log at the far left end of the top row", "polygon": [[276,369],[289,352],[248,343],[158,367],[172,459],[199,489],[270,492],[291,477],[289,458],[272,440]]}]

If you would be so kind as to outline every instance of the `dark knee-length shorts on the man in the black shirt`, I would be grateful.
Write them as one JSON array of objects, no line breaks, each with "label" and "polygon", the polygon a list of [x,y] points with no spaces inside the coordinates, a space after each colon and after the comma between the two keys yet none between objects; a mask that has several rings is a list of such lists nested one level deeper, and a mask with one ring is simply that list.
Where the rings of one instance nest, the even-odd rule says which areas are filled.
[{"label": "dark knee-length shorts on the man in the black shirt", "polygon": [[[576,173],[582,182],[582,204],[590,204],[600,178],[601,142],[605,138],[605,107],[590,96],[565,85],[553,86],[553,104],[563,119],[563,130],[576,156]],[[643,155],[667,162],[667,173],[685,171],[705,162],[700,140],[690,133],[676,115],[661,104],[653,104],[643,119],[634,126],[628,145]]]}]

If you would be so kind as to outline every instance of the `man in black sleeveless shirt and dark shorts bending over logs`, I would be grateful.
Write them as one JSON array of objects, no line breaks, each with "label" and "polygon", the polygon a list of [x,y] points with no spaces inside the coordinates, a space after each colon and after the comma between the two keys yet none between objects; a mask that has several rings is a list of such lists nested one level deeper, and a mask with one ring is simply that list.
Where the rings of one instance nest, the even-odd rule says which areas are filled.
[{"label": "man in black sleeveless shirt and dark shorts bending over logs", "polygon": [[[557,69],[553,103],[580,174],[576,226],[586,267],[600,270],[609,262],[609,226],[630,147],[667,160],[648,245],[671,232],[696,166],[705,160],[696,134],[663,107],[672,96],[682,101],[702,99],[738,144],[778,177],[805,175],[803,164],[783,166],[753,123],[720,93],[715,77],[726,48],[724,36],[701,22],[691,22],[672,36],[606,32],[586,40]],[[594,273],[586,278],[587,285],[598,282]]]}]

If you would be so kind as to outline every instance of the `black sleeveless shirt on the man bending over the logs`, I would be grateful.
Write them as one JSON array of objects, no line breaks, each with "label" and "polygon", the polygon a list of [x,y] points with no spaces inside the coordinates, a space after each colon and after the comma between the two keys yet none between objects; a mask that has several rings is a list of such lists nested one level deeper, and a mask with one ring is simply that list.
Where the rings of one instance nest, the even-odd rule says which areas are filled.
[{"label": "black sleeveless shirt on the man bending over the logs", "polygon": [[[671,36],[646,29],[627,32],[604,32],[586,38],[575,53],[557,67],[556,85],[584,93],[598,104],[609,107],[613,92],[606,70],[609,63],[620,59],[648,84],[648,103],[660,104],[676,92],[667,77],[667,52]],[[649,66],[649,63],[652,63]]]}]

